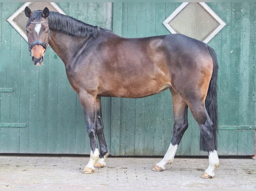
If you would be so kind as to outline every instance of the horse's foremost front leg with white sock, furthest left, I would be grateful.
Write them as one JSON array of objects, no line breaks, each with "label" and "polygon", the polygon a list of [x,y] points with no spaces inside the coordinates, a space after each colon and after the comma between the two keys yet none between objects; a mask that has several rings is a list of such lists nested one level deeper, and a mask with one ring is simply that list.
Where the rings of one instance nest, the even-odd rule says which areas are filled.
[{"label": "horse's foremost front leg with white sock, furthest left", "polygon": [[90,160],[82,173],[91,174],[95,171],[95,163],[99,159],[99,149],[96,139],[96,110],[95,110],[95,103],[96,103],[96,96],[88,94],[87,92],[79,93],[79,100],[84,110],[87,133],[90,138],[90,145],[91,145],[91,153],[90,153]]}]

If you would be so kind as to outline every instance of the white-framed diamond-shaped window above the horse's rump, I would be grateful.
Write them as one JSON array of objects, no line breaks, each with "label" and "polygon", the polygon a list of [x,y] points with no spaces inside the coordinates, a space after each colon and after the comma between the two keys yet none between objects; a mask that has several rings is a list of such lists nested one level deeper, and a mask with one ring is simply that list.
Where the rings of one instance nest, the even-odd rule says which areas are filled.
[{"label": "white-framed diamond-shaped window above the horse's rump", "polygon": [[164,22],[172,33],[208,43],[226,23],[206,3],[182,3]]}]

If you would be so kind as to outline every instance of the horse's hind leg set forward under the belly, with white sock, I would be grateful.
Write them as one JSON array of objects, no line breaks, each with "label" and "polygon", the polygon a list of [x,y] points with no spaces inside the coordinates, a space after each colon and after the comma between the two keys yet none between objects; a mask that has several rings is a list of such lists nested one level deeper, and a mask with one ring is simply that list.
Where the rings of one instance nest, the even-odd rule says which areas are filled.
[{"label": "horse's hind leg set forward under the belly, with white sock", "polygon": [[186,102],[180,97],[180,95],[174,92],[171,89],[172,94],[172,102],[173,102],[173,119],[174,119],[174,126],[173,126],[173,137],[170,143],[170,146],[165,153],[163,159],[158,162],[154,167],[153,171],[163,171],[165,169],[166,164],[171,164],[174,155],[177,151],[179,142],[188,127],[187,123],[187,104]]}]

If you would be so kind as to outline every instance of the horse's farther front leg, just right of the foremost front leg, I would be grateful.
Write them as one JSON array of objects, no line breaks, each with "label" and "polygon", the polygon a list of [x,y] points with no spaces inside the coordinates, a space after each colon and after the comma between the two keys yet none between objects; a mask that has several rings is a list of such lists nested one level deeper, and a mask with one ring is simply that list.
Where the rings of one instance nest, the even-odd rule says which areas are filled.
[{"label": "horse's farther front leg, just right of the foremost front leg", "polygon": [[101,97],[96,98],[96,134],[100,144],[100,157],[97,163],[94,165],[95,168],[103,168],[106,165],[106,158],[108,156],[108,147],[105,141],[103,133],[103,122],[101,113]]}]

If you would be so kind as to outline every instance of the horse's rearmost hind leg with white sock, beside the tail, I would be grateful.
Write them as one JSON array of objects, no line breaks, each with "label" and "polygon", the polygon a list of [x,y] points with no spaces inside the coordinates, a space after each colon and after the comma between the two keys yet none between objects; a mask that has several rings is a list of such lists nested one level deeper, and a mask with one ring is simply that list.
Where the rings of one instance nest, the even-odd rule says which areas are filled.
[{"label": "horse's rearmost hind leg with white sock, beside the tail", "polygon": [[219,158],[215,144],[216,137],[213,132],[213,122],[206,111],[204,101],[193,101],[189,104],[189,108],[205,139],[205,150],[209,153],[209,166],[201,177],[213,178],[215,176],[214,170],[219,166]]}]

